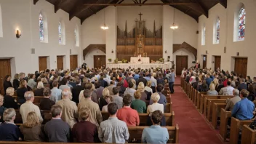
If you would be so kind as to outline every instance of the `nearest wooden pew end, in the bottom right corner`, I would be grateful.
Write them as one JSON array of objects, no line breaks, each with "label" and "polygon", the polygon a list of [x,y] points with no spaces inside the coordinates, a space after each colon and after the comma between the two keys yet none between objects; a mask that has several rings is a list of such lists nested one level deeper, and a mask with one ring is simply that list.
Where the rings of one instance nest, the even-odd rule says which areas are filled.
[{"label": "nearest wooden pew end, in the bottom right corner", "polygon": [[255,144],[256,143],[256,130],[249,128],[244,124],[241,130],[241,144]]}]

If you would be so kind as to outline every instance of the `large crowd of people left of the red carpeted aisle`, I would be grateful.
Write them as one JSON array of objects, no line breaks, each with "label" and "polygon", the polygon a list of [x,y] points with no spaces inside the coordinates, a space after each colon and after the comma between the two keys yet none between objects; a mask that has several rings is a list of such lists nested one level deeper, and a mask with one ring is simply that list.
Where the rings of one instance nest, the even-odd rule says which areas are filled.
[{"label": "large crowd of people left of the red carpeted aisle", "polygon": [[[148,113],[142,143],[167,143],[164,87],[174,92],[173,69],[49,69],[4,79],[0,95],[0,140],[29,142],[126,143],[139,113]],[[199,84],[200,85],[200,84]],[[14,96],[17,96],[15,100]],[[36,105],[35,97],[43,97]],[[15,124],[17,111],[23,124]],[[44,121],[42,111],[52,119]],[[103,121],[102,113],[109,118]]]}]

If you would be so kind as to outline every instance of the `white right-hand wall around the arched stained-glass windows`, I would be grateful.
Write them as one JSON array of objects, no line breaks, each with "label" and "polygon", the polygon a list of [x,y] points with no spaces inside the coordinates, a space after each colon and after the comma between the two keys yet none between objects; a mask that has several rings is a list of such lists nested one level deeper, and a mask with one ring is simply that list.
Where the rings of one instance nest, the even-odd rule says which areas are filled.
[{"label": "white right-hand wall around the arched stained-glass windows", "polygon": [[[239,4],[244,4],[246,9],[246,29],[244,41],[233,41],[234,30],[234,17],[235,12],[239,11]],[[236,57],[236,52],[239,52],[239,57],[248,57],[247,75],[255,76],[256,67],[254,62],[256,60],[255,52],[255,33],[256,33],[256,4],[254,0],[228,0],[228,8],[225,9],[222,5],[217,4],[212,9],[209,9],[209,18],[207,19],[202,15],[199,17],[198,29],[201,33],[201,26],[206,25],[206,44],[201,46],[201,34],[198,38],[198,58],[202,63],[201,55],[208,51],[207,55],[207,67],[212,67],[212,55],[221,56],[221,68],[233,71],[234,64],[233,58]],[[220,17],[220,44],[213,44],[213,25]],[[224,47],[226,47],[226,53],[224,53]]]}]

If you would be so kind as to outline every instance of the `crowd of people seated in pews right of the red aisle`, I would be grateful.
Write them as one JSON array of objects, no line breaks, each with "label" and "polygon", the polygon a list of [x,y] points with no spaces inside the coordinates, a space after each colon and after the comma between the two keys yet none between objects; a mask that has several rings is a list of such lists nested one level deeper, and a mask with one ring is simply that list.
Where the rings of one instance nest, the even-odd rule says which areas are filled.
[{"label": "crowd of people seated in pews right of the red aisle", "polygon": [[256,77],[241,76],[233,71],[212,71],[211,69],[183,69],[182,77],[199,92],[207,95],[233,95],[226,100],[226,111],[239,120],[255,118]]}]

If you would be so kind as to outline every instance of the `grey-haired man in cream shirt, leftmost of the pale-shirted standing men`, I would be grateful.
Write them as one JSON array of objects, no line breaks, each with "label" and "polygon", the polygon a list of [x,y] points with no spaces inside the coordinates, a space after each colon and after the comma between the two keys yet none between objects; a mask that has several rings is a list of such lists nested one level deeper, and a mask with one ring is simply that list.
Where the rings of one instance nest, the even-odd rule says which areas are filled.
[{"label": "grey-haired man in cream shirt, leftmost of the pale-shirted standing men", "polygon": [[23,124],[27,121],[28,113],[34,111],[37,116],[39,116],[39,121],[43,122],[43,118],[41,117],[40,109],[37,105],[33,104],[33,100],[35,100],[35,96],[33,92],[28,91],[25,92],[25,100],[26,102],[20,105],[20,115],[23,119]]}]

